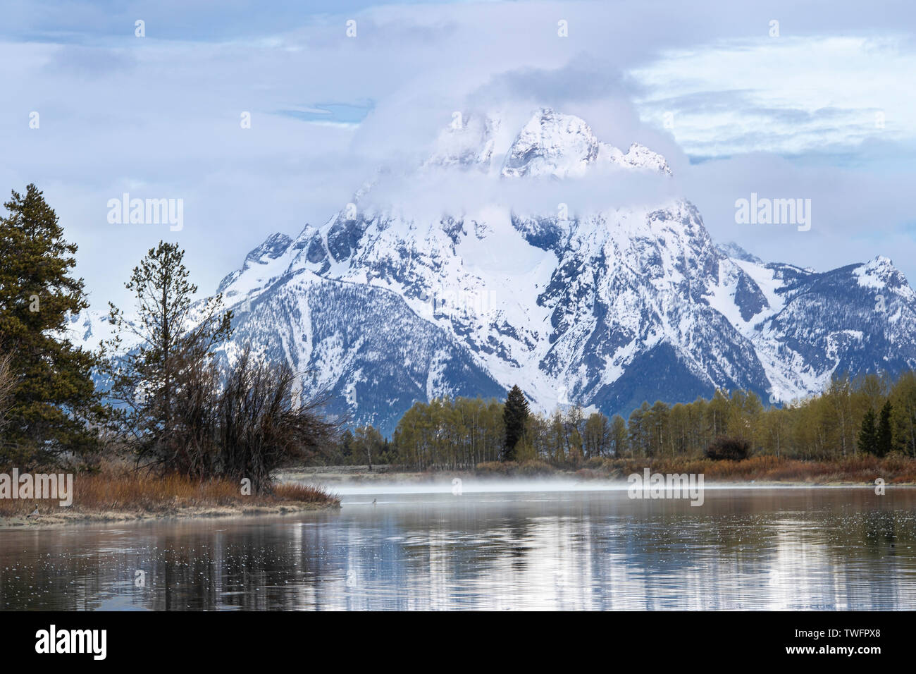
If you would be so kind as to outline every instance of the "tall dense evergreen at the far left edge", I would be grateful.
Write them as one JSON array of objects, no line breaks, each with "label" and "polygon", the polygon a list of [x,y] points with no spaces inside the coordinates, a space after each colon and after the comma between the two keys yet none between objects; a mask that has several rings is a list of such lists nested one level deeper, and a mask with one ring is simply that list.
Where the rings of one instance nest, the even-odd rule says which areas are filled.
[{"label": "tall dense evergreen at the far left edge", "polygon": [[92,379],[97,359],[65,336],[67,317],[89,304],[71,276],[76,245],[34,184],[12,194],[0,218],[0,357],[13,385],[0,463],[53,459],[97,447],[104,416]]}]

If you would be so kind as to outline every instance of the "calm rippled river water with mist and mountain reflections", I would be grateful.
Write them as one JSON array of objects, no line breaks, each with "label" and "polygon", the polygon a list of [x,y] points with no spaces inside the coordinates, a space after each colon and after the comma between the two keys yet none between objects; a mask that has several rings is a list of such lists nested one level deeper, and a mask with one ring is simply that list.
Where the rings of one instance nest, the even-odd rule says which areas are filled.
[{"label": "calm rippled river water with mist and mountain reflections", "polygon": [[916,609],[913,488],[501,489],[0,530],[0,609]]}]

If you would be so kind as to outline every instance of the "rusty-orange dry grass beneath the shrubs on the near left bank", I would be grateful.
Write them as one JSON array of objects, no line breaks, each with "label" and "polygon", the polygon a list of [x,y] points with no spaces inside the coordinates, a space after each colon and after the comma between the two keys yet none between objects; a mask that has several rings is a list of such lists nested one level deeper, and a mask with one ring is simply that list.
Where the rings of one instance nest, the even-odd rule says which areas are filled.
[{"label": "rusty-orange dry grass beneath the shrubs on the near left bank", "polygon": [[[194,481],[181,475],[163,478],[136,472],[86,474],[73,476],[72,509],[82,513],[138,512],[169,513],[180,508],[272,506],[283,504],[338,504],[333,494],[320,487],[303,484],[278,484],[273,494],[243,496],[234,481]],[[0,517],[30,514],[38,505],[39,514],[59,512],[58,501],[0,499]]]}]

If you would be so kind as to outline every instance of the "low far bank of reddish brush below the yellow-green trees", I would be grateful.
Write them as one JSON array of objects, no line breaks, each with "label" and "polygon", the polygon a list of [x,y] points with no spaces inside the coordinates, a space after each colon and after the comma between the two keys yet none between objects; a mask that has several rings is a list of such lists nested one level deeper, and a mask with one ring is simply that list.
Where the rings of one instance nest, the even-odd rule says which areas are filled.
[{"label": "low far bank of reddish brush below the yellow-green trees", "polygon": [[633,473],[703,474],[707,484],[755,483],[801,485],[874,485],[881,479],[887,484],[916,485],[916,459],[873,456],[846,459],[803,461],[781,457],[752,457],[743,461],[711,459],[589,459],[579,467],[554,466],[544,461],[492,461],[478,463],[473,470],[408,470],[398,466],[307,466],[283,470],[283,481],[317,481],[322,484],[371,484],[398,482],[421,484],[446,478],[539,479],[567,478],[575,481],[627,481]]}]

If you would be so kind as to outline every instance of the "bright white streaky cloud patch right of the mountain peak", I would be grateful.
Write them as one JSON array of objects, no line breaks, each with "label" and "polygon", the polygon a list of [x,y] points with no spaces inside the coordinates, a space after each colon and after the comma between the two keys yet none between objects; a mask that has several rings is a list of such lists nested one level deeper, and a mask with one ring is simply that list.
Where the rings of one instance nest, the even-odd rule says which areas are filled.
[{"label": "bright white streaky cloud patch right of the mountain peak", "polygon": [[727,40],[633,69],[642,116],[692,155],[801,154],[916,138],[916,72],[903,36]]}]

